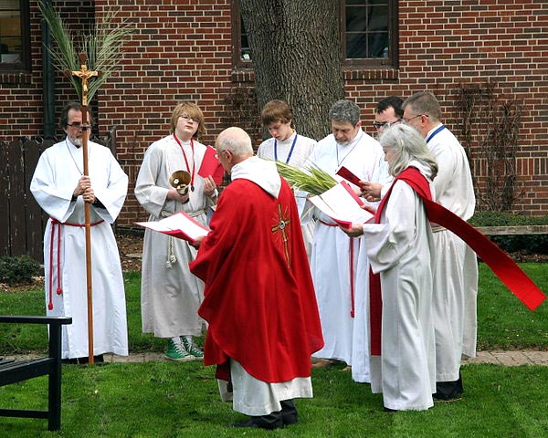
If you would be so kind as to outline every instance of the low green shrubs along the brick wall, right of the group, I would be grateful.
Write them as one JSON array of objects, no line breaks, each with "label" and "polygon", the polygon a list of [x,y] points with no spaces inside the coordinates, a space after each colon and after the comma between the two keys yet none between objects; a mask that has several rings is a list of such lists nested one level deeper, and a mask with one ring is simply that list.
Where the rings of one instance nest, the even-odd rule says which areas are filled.
[{"label": "low green shrubs along the brick wall, right of the group", "polygon": [[[547,225],[548,216],[477,212],[469,223],[474,226]],[[548,254],[548,235],[490,235],[490,239],[507,253]]]}]

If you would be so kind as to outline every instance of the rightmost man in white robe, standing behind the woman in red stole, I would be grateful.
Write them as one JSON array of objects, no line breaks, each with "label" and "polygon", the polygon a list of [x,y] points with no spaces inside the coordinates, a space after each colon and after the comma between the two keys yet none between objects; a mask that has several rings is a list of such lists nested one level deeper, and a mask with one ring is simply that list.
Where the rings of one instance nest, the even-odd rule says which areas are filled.
[{"label": "rightmost man in white robe, standing behind the woman in red stole", "polygon": [[[474,214],[476,197],[466,152],[440,121],[436,97],[421,91],[403,104],[404,122],[427,140],[428,150],[439,165],[434,180],[434,201],[467,221]],[[433,266],[433,323],[436,335],[435,399],[455,400],[463,391],[461,356],[476,355],[476,296],[478,261],[458,236],[434,226],[436,247]]]}]

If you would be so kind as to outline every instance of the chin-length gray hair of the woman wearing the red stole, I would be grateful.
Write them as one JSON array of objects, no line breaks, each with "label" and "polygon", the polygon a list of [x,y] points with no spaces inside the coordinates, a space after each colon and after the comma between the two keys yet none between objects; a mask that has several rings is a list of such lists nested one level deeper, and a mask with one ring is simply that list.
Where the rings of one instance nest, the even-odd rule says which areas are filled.
[{"label": "chin-length gray hair of the woman wearing the red stole", "polygon": [[427,141],[415,128],[403,124],[391,126],[383,131],[379,142],[381,146],[395,153],[395,161],[389,163],[391,175],[403,172],[413,160],[430,168],[430,179],[433,180],[437,175],[436,159],[432,152],[428,151]]}]

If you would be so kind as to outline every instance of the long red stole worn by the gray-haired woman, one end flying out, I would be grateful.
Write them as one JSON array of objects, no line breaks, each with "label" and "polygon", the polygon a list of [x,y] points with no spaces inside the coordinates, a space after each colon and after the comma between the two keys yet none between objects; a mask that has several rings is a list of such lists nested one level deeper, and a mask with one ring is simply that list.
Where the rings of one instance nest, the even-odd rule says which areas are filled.
[{"label": "long red stole worn by the gray-haired woman, one end flying out", "polygon": [[[488,265],[493,273],[501,279],[511,292],[522,300],[522,303],[530,310],[541,305],[546,298],[543,292],[536,287],[532,279],[527,276],[520,266],[517,266],[511,258],[504,253],[499,246],[493,244],[485,235],[482,235],[476,228],[450,212],[439,203],[432,200],[430,186],[427,179],[414,167],[408,167],[395,177],[394,183],[401,180],[409,184],[415,190],[427,209],[427,217],[430,222],[446,227],[449,231],[458,235],[479,257]],[[392,187],[385,194],[379,203],[374,223],[379,224],[385,204],[390,197]],[[370,294],[370,320],[371,320],[371,354],[381,354],[381,314],[383,301],[381,297],[381,279],[379,274],[369,272],[369,294]]]}]

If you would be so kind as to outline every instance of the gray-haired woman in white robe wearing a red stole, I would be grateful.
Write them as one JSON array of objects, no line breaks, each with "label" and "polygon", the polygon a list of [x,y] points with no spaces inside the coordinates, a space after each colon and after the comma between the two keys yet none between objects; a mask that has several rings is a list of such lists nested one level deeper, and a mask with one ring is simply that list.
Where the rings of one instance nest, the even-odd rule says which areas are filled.
[{"label": "gray-haired woman in white robe wearing a red stole", "polygon": [[[395,181],[383,189],[377,223],[353,224],[349,230],[351,235],[364,234],[373,273],[380,274],[381,330],[372,328],[371,388],[383,393],[386,411],[421,411],[433,406],[436,389],[433,239],[421,198],[398,176],[415,168],[428,186],[437,163],[420,134],[405,125],[385,130],[380,143]],[[372,296],[372,319],[375,309]],[[378,351],[375,335],[380,335]]]}]

